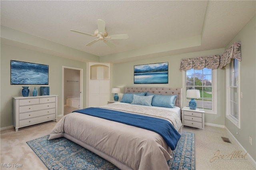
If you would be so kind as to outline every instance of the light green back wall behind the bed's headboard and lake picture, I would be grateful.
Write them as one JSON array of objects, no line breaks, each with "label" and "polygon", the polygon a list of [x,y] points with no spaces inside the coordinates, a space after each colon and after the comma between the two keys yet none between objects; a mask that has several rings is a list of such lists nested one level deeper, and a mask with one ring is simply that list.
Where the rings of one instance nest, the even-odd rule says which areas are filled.
[{"label": "light green back wall behind the bed's headboard and lake picture", "polygon": [[[182,88],[182,71],[180,69],[180,61],[184,58],[203,57],[210,55],[221,55],[224,49],[216,49],[210,51],[201,51],[196,53],[186,53],[182,55],[173,55],[166,57],[159,57],[154,59],[144,59],[139,61],[132,61],[126,63],[113,64],[113,78],[112,84],[114,87],[120,87],[121,92],[124,92],[126,86],[163,86],[163,87],[177,87]],[[134,84],[134,65],[140,64],[151,64],[151,63],[162,63],[168,62],[169,65],[169,76],[168,84]],[[217,69],[218,80],[218,114],[205,114],[205,122],[225,125],[225,70]],[[121,97],[121,95],[120,95]],[[111,97],[112,98],[112,97]]]}]

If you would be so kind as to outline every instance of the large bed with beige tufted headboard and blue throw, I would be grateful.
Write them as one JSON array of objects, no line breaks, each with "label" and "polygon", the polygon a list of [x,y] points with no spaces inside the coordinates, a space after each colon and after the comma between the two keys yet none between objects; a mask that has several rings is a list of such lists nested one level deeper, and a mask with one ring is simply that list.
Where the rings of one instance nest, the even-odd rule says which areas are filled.
[{"label": "large bed with beige tufted headboard and blue throw", "polygon": [[[138,97],[139,95],[137,94],[142,93],[146,93],[145,96]],[[152,96],[153,94],[154,96]],[[153,104],[153,99],[156,96],[171,96],[172,99],[173,96],[176,96],[176,99],[173,101],[175,105],[174,108],[168,108],[131,104],[122,101],[126,99],[125,96],[132,96],[132,103],[137,98],[152,98]],[[70,139],[82,147],[98,154],[122,170],[168,170],[167,162],[171,159],[170,154],[176,147],[175,143],[178,142],[178,135],[182,133],[182,123],[180,120],[182,88],[126,87],[122,100],[122,102],[116,102],[101,107],[80,109],[64,116],[52,129],[49,140],[58,137]],[[96,111],[94,109],[96,109]],[[83,111],[88,113],[82,114]],[[111,119],[113,117],[113,119],[116,119],[116,117],[119,119],[123,114],[129,117],[132,116],[129,118],[134,120],[132,124],[137,121],[134,117],[139,117],[141,124],[146,121],[145,124],[149,125],[148,127],[152,129],[148,130],[144,129],[144,127],[136,127],[137,125],[96,117],[90,115],[90,111],[97,112],[97,114],[100,111],[100,115],[107,116],[112,116],[112,113],[113,115],[118,114],[118,116],[112,116]],[[141,117],[146,117],[147,120],[141,121]],[[152,124],[147,123],[148,119],[150,119]],[[153,125],[158,121],[161,123]],[[155,131],[156,126],[164,125],[162,122],[167,123],[168,128],[170,126],[171,129],[169,129],[167,133],[172,131],[173,134],[171,134],[171,137],[168,138],[165,135],[160,135],[162,134],[161,129],[163,130],[163,128],[160,128],[161,132],[159,133]],[[167,126],[167,124],[164,126]],[[166,132],[166,130],[163,131],[164,133]]]}]

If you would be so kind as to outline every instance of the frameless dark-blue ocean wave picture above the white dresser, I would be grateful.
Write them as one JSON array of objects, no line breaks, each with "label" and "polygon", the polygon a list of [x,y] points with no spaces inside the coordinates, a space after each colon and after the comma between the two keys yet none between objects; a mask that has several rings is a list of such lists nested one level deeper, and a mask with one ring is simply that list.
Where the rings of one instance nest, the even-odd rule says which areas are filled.
[{"label": "frameless dark-blue ocean wave picture above the white dresser", "polygon": [[48,85],[49,66],[11,60],[11,84]]}]

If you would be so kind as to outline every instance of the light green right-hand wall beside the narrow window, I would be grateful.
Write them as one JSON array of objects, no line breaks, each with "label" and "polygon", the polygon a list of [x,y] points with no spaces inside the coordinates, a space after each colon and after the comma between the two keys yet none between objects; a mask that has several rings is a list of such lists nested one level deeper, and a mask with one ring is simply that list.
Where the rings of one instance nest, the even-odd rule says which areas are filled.
[{"label": "light green right-hand wall beside the narrow window", "polygon": [[[256,161],[256,17],[226,46],[226,49],[234,41],[241,41],[240,62],[240,129],[225,119],[225,125],[239,143],[246,149]],[[238,134],[236,132],[238,131]],[[252,138],[252,146],[249,144],[249,136]]]}]

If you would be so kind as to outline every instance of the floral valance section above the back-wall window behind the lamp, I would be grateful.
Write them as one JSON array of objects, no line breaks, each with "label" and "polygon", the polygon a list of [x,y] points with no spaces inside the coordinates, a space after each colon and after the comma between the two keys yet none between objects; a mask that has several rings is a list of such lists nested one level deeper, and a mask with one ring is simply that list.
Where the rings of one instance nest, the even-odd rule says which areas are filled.
[{"label": "floral valance section above the back-wall window behind the lamp", "polygon": [[186,71],[190,70],[191,68],[194,68],[195,70],[201,70],[204,67],[217,69],[219,64],[220,55],[181,59],[180,70]]}]

